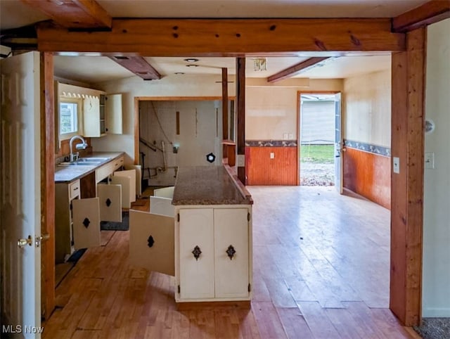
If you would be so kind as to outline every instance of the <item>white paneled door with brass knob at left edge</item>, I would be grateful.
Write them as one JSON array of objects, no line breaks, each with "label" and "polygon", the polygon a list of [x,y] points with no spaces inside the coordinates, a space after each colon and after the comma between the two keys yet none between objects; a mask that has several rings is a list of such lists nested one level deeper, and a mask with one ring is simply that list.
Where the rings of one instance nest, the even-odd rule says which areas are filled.
[{"label": "white paneled door with brass knob at left edge", "polygon": [[[41,325],[39,53],[3,59],[0,66],[1,318],[7,326],[1,330],[39,338],[32,333]],[[19,247],[18,239],[29,244]]]}]

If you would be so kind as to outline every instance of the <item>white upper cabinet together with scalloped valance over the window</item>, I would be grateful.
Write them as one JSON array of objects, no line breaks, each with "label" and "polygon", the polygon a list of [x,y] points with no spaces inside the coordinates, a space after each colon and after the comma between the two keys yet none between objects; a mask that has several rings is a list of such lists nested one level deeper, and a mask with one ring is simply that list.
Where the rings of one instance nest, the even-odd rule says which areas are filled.
[{"label": "white upper cabinet together with scalloped valance over the window", "polygon": [[[57,89],[59,102],[77,98],[80,103],[77,134],[87,137],[122,134],[122,94],[109,95],[96,89],[60,83],[57,83]],[[59,121],[60,114],[58,108]]]}]

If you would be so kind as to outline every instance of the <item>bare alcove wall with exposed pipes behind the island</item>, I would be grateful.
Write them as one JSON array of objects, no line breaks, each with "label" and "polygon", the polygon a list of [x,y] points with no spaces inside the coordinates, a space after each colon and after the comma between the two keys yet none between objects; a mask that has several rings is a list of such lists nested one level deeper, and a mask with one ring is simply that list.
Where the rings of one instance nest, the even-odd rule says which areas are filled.
[{"label": "bare alcove wall with exposed pipes behind the island", "polygon": [[[141,101],[139,107],[140,136],[150,144],[155,142],[158,148],[164,141],[166,149],[167,170],[163,171],[162,152],[141,144],[140,150],[146,154],[145,166],[152,169],[150,186],[174,185],[177,166],[221,165],[221,101]],[[178,153],[173,153],[173,145],[179,145]],[[206,160],[209,153],[217,157],[212,163]],[[145,174],[148,177],[148,171]]]}]

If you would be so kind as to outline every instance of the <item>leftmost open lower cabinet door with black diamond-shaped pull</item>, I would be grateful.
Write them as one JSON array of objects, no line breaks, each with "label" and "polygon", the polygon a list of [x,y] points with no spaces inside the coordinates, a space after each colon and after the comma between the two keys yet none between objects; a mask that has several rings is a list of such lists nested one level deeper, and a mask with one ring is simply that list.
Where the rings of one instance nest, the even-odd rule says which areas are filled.
[{"label": "leftmost open lower cabinet door with black diamond-shaped pull", "polygon": [[98,198],[72,200],[75,249],[100,246],[99,211]]}]

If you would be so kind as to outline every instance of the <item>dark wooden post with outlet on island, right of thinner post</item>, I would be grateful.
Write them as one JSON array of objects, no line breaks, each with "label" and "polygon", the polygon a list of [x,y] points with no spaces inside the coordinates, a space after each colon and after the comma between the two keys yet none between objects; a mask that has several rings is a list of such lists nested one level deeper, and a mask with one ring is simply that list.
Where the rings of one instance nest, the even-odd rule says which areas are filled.
[{"label": "dark wooden post with outlet on island, right of thinner post", "polygon": [[238,117],[238,178],[245,178],[245,58],[236,58],[236,116]]}]

